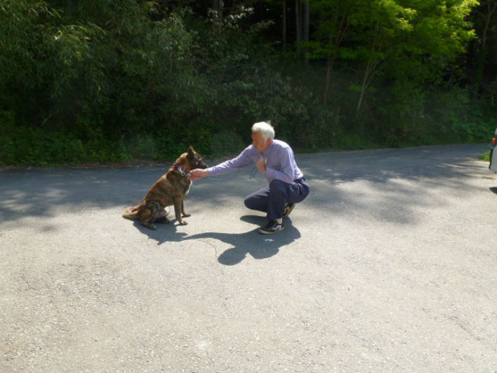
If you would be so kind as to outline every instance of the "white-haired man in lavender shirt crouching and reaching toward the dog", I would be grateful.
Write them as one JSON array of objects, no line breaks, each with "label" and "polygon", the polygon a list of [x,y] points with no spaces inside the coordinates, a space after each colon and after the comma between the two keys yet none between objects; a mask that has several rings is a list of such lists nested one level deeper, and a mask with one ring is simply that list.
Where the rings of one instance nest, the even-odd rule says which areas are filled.
[{"label": "white-haired man in lavender shirt crouching and reaching toward the dog", "polygon": [[295,163],[292,148],[285,142],[274,139],[271,124],[264,121],[253,124],[252,140],[252,145],[236,158],[204,170],[195,169],[190,173],[195,180],[256,164],[258,171],[266,175],[269,186],[252,193],[244,202],[251,210],[267,213],[269,222],[258,231],[273,234],[283,229],[283,218],[290,215],[295,203],[302,202],[307,197],[309,185],[305,183],[302,171]]}]

